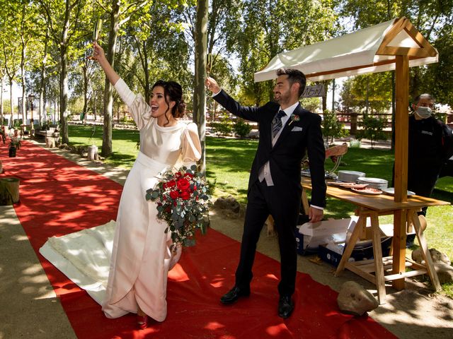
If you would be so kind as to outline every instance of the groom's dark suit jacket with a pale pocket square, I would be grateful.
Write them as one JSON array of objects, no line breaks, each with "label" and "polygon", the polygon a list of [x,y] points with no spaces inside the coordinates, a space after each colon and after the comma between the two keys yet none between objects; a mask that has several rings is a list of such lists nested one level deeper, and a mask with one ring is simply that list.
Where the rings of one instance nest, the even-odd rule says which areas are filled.
[{"label": "groom's dark suit jacket with a pale pocket square", "polygon": [[[308,151],[312,184],[311,203],[314,206],[326,206],[325,150],[321,133],[321,117],[318,114],[311,113],[298,105],[293,114],[299,116],[299,121],[292,121],[290,118],[273,146],[271,124],[280,107],[277,102],[268,102],[261,107],[243,107],[224,90],[215,95],[214,100],[232,114],[259,124],[260,141],[251,168],[249,189],[258,180],[260,168],[269,161],[275,189],[283,196],[298,194],[300,197],[302,194],[301,160]],[[291,121],[292,123],[289,124]]]}]

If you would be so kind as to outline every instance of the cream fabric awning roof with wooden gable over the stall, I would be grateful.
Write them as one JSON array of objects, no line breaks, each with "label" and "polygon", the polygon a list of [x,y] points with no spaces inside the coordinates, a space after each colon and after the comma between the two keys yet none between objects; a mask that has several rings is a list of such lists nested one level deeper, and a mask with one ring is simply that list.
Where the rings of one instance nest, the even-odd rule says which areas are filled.
[{"label": "cream fabric awning roof with wooden gable over the stall", "polygon": [[277,78],[281,67],[299,69],[311,81],[395,69],[396,55],[408,55],[409,66],[435,63],[437,50],[406,18],[395,18],[341,37],[277,54],[255,73],[255,81]]}]

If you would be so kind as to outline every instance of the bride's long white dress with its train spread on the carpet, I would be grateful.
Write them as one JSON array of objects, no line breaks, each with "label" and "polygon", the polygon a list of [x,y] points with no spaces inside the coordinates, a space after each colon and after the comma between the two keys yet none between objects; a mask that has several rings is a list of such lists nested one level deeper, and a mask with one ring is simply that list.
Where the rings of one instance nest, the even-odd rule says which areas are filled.
[{"label": "bride's long white dress with its train spread on the carpet", "polygon": [[122,79],[115,88],[140,131],[140,152],[122,191],[116,225],[52,237],[40,252],[102,304],[109,318],[137,313],[139,306],[164,321],[168,269],[178,256],[170,250],[166,222],[157,219],[156,204],[145,195],[157,184],[159,172],[200,159],[197,126],[159,126],[141,95],[134,95]]}]

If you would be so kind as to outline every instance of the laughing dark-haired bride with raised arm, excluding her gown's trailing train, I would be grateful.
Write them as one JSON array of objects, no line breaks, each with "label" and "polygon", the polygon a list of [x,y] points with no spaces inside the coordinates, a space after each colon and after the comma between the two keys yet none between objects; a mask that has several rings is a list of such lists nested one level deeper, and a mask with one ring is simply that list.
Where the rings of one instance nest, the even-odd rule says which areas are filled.
[{"label": "laughing dark-haired bride with raised arm, excluding her gown's trailing train", "polygon": [[[117,318],[137,313],[139,328],[149,317],[164,321],[167,313],[166,284],[172,255],[171,234],[157,219],[156,204],[145,199],[147,189],[158,182],[156,174],[176,165],[193,165],[200,159],[197,126],[178,121],[185,112],[181,86],[157,81],[149,103],[135,95],[93,43],[98,61],[115,86],[140,133],[140,150],[127,177],[118,208],[110,273],[102,307],[105,316]],[[179,254],[180,255],[180,248]]]}]

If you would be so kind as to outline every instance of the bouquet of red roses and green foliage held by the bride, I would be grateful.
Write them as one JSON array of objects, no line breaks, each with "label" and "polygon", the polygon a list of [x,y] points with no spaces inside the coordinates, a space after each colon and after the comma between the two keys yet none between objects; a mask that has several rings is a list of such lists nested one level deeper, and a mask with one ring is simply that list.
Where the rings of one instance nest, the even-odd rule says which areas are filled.
[{"label": "bouquet of red roses and green foliage held by the bride", "polygon": [[192,246],[193,235],[199,228],[205,233],[205,215],[211,205],[208,186],[197,172],[197,167],[181,167],[161,173],[156,188],[147,190],[147,200],[156,201],[157,217],[168,224],[175,244]]}]

